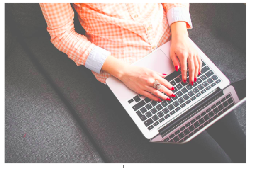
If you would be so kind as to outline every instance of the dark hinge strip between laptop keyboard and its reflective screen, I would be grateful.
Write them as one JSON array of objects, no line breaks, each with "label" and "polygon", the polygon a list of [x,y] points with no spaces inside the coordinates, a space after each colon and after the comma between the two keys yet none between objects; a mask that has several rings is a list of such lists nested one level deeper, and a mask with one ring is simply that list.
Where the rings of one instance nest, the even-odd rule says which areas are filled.
[{"label": "dark hinge strip between laptop keyboard and its reflective screen", "polygon": [[169,124],[159,129],[159,133],[161,134],[161,136],[166,136],[171,131],[176,129],[180,124],[185,122],[188,118],[200,112],[202,109],[207,107],[209,104],[217,100],[222,95],[223,95],[223,90],[218,87],[217,90],[215,90],[215,92],[213,92],[211,95],[206,97],[204,100],[202,100],[201,102],[199,102],[198,104],[190,108],[187,112],[183,113],[177,119],[171,121]]}]

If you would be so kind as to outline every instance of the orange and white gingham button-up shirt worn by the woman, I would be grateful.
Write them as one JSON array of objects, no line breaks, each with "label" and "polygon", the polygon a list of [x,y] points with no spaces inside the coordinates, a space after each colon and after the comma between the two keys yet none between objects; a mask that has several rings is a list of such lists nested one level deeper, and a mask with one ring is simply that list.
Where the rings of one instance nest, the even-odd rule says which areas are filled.
[{"label": "orange and white gingham button-up shirt worn by the woman", "polygon": [[192,28],[187,3],[73,3],[85,35],[75,32],[69,3],[40,7],[54,46],[102,83],[110,77],[101,70],[110,54],[131,64],[169,41],[173,22]]}]

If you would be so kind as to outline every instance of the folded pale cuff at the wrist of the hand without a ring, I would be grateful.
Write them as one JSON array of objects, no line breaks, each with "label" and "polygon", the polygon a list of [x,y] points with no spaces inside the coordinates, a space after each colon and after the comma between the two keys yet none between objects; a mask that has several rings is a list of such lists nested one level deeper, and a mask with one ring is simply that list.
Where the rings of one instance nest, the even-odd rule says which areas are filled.
[{"label": "folded pale cuff at the wrist of the hand without a ring", "polygon": [[192,22],[190,19],[189,11],[184,7],[173,7],[170,10],[168,10],[166,15],[169,26],[171,26],[173,22],[185,21],[189,24],[190,29],[192,28]]}]

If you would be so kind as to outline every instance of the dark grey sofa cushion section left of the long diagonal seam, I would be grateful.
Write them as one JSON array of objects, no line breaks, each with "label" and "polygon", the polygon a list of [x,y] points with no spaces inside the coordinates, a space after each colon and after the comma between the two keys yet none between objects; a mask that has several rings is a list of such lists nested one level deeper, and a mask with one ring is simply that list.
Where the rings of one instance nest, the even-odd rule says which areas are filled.
[{"label": "dark grey sofa cushion section left of the long diagonal seam", "polygon": [[103,163],[9,29],[5,47],[5,163]]}]

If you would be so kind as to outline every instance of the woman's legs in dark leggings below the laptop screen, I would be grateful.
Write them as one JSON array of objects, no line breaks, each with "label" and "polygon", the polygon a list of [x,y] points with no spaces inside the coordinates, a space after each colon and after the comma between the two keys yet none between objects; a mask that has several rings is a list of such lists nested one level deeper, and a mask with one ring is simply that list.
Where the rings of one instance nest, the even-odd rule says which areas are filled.
[{"label": "woman's legs in dark leggings below the laptop screen", "polygon": [[246,163],[246,136],[234,112],[184,145],[171,144],[173,163]]}]

